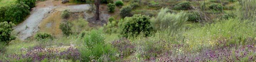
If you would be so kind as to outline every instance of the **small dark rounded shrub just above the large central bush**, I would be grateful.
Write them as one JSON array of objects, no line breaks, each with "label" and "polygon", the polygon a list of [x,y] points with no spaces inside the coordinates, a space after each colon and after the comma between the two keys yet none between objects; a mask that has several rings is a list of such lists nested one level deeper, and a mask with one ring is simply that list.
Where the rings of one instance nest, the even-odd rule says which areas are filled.
[{"label": "small dark rounded shrub just above the large central bush", "polygon": [[121,17],[127,17],[127,16],[131,16],[131,11],[132,11],[132,8],[130,6],[125,6],[125,7],[122,7],[121,10],[120,10],[120,15]]}]

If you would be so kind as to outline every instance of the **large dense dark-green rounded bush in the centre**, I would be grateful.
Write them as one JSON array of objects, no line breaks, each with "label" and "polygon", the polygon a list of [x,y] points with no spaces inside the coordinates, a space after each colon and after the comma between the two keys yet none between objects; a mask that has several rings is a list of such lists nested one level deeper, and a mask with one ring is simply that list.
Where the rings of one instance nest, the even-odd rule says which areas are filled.
[{"label": "large dense dark-green rounded bush in the centre", "polygon": [[150,17],[135,14],[132,17],[124,18],[124,23],[122,23],[121,27],[121,35],[123,37],[137,36],[143,33],[143,35],[148,36],[153,31],[153,27],[151,26]]}]

